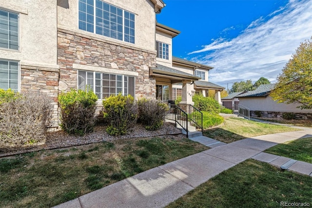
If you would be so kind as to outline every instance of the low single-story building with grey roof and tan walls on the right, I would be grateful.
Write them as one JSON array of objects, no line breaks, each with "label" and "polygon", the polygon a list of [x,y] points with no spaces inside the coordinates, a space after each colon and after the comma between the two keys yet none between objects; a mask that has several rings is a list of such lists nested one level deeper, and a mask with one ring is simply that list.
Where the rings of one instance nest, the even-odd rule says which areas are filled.
[{"label": "low single-story building with grey roof and tan walls on the right", "polygon": [[252,117],[257,117],[255,111],[261,111],[262,117],[281,118],[285,112],[294,113],[300,119],[312,119],[311,109],[298,108],[299,104],[284,104],[273,101],[270,96],[275,84],[262,84],[253,91],[239,94],[239,104],[248,107]]}]

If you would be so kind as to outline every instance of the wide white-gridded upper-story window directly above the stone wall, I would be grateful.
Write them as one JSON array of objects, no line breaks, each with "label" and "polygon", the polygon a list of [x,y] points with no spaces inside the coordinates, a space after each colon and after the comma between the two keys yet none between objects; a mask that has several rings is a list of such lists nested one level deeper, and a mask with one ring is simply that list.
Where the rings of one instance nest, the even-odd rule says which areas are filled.
[{"label": "wide white-gridded upper-story window directly above the stone wall", "polygon": [[135,43],[135,14],[101,0],[79,0],[79,29]]}]

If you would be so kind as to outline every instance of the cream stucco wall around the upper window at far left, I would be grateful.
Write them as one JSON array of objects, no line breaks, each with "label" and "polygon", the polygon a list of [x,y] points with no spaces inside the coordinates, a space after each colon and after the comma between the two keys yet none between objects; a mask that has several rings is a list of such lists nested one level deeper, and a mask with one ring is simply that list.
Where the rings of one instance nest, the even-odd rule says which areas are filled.
[{"label": "cream stucco wall around the upper window at far left", "polygon": [[0,8],[20,15],[20,50],[0,48],[0,59],[20,61],[24,65],[56,68],[56,0],[2,0]]}]

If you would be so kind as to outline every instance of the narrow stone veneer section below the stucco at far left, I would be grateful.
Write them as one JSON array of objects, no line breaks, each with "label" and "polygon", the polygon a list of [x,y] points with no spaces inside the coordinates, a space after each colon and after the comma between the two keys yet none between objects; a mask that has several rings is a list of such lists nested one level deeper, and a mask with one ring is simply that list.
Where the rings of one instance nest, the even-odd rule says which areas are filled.
[{"label": "narrow stone veneer section below the stucco at far left", "polygon": [[21,65],[20,75],[21,93],[38,93],[51,98],[53,127],[58,127],[59,69]]}]

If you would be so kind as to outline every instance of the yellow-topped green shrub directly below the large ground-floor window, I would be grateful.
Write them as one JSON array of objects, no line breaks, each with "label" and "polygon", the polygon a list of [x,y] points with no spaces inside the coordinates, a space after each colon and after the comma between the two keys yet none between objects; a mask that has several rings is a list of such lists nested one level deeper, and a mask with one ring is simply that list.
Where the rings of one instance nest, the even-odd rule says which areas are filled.
[{"label": "yellow-topped green shrub directly below the large ground-floor window", "polygon": [[104,119],[109,123],[106,131],[110,135],[124,135],[137,123],[137,104],[131,95],[112,95],[102,103]]}]

